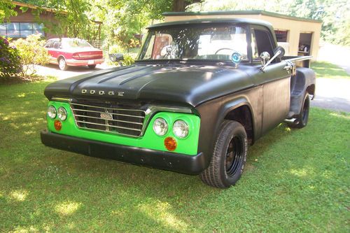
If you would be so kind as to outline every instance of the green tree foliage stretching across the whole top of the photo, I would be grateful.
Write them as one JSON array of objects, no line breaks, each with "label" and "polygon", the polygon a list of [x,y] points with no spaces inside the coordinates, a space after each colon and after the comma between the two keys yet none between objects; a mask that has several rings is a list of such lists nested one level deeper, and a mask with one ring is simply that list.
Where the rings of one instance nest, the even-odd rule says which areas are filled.
[{"label": "green tree foliage stretching across the whole top of the photo", "polygon": [[[44,22],[55,34],[91,38],[94,24],[103,22],[102,38],[127,47],[134,34],[162,19],[165,11],[267,10],[322,20],[321,36],[334,43],[349,45],[349,0],[22,0],[57,10],[56,22]],[[0,2],[2,15],[10,14],[9,0]],[[7,7],[4,7],[7,6]],[[3,10],[3,9],[6,10]],[[2,11],[1,11],[2,10]],[[34,10],[39,15],[40,7]],[[6,13],[1,13],[6,12]],[[38,20],[40,20],[38,18]]]}]

